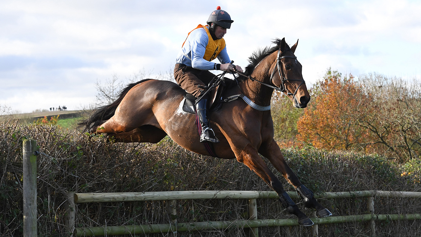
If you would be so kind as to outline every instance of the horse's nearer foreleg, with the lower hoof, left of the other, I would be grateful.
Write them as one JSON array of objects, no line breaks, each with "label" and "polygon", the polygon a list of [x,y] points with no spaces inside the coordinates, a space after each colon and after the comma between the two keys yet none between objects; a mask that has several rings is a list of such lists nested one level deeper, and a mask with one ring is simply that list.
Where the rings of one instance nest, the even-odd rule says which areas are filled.
[{"label": "horse's nearer foreleg, with the lower hoof, left of the other", "polygon": [[262,178],[266,184],[268,184],[277,194],[282,206],[290,214],[294,214],[298,217],[298,224],[302,226],[312,226],[314,223],[306,214],[304,214],[298,206],[289,197],[288,193],[285,192],[282,183],[267,167],[266,163],[262,160],[260,155],[251,145],[246,146],[241,152],[236,152],[236,157],[239,162],[247,165],[250,170],[253,170],[260,178]]}]

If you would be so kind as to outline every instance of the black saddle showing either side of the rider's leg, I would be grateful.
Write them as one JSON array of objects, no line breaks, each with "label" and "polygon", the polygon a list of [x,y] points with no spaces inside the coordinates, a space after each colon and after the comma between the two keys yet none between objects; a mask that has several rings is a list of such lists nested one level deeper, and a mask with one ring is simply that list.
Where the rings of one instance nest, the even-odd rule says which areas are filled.
[{"label": "black saddle showing either side of the rider's leg", "polygon": [[[209,83],[208,90],[210,90],[208,93],[210,94],[210,104],[209,111],[217,111],[221,109],[222,104],[224,102],[224,99],[222,99],[222,94],[226,89],[229,89],[233,87],[234,85],[237,85],[237,83],[229,78],[223,77],[222,80],[218,82],[217,85],[213,85],[213,81]],[[184,94],[184,99],[182,101],[183,103],[183,111],[191,114],[195,114],[195,101],[196,97],[193,96],[190,93]]]}]

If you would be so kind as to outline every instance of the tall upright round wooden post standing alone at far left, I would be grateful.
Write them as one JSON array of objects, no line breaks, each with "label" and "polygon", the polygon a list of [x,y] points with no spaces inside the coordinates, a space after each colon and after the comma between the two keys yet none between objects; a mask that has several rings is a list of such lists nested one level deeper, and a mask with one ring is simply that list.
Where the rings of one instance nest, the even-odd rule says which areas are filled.
[{"label": "tall upright round wooden post standing alone at far left", "polygon": [[23,157],[24,237],[37,236],[37,141],[25,139]]}]

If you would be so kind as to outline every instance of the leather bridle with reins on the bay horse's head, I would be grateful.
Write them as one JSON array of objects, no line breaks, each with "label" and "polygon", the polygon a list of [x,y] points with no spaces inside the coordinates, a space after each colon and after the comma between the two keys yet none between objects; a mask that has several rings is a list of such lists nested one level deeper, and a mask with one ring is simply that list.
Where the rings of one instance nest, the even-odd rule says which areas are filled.
[{"label": "leather bridle with reins on the bay horse's head", "polygon": [[[236,71],[236,73],[238,73],[238,74],[240,74],[240,75],[242,75],[242,76],[245,76],[245,77],[248,77],[248,78],[250,78],[250,80],[252,80],[252,81],[256,81],[256,82],[258,82],[258,83],[260,83],[260,84],[262,84],[262,85],[266,85],[267,87],[270,87],[270,88],[273,88],[273,89],[275,89],[275,90],[277,90],[277,91],[280,91],[280,92],[283,92],[283,93],[287,93],[287,95],[289,95],[289,96],[295,96],[296,95],[296,93],[297,93],[297,91],[298,91],[298,88],[300,88],[300,86],[301,85],[303,85],[303,84],[305,84],[306,82],[304,81],[304,79],[302,79],[302,80],[294,80],[294,79],[287,79],[287,78],[285,78],[285,76],[284,76],[284,72],[283,72],[283,70],[281,70],[281,59],[285,59],[285,58],[291,58],[291,59],[296,59],[297,57],[296,56],[280,56],[280,53],[281,53],[281,51],[280,50],[278,50],[278,56],[277,56],[277,59],[276,59],[276,64],[277,64],[277,67],[274,67],[274,69],[273,69],[273,71],[272,71],[272,74],[270,75],[270,83],[272,84],[272,85],[269,85],[269,84],[266,84],[266,83],[263,83],[263,82],[260,82],[260,81],[258,81],[258,80],[256,80],[255,78],[253,78],[253,77],[251,77],[251,76],[247,76],[247,75],[244,75],[244,74],[242,74],[242,73],[240,73],[240,72],[237,72],[237,70],[235,70]],[[235,67],[234,67],[234,69],[235,69]],[[281,85],[280,85],[280,87],[277,87],[276,85],[274,85],[274,83],[272,82],[272,80],[273,80],[273,77],[274,77],[274,75],[275,75],[275,73],[276,73],[276,69],[278,69],[278,75],[279,75],[279,77],[281,78]],[[288,89],[287,88],[285,88],[285,81],[301,81],[301,84],[300,85],[298,85],[298,87],[296,88],[296,90],[294,91],[294,93],[290,93],[289,91],[288,91]]]}]

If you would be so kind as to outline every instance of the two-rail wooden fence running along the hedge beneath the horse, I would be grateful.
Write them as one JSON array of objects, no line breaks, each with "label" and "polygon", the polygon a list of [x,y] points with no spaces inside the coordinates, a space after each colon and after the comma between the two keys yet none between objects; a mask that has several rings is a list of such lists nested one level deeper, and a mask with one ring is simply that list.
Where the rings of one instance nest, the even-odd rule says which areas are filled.
[{"label": "two-rail wooden fence running along the hedge beneath the horse", "polygon": [[[296,192],[288,192],[292,198],[298,198]],[[420,198],[421,192],[391,192],[391,191],[351,191],[351,192],[325,192],[315,194],[316,198],[353,198],[367,197],[368,211],[371,214],[353,215],[353,216],[331,216],[327,218],[311,218],[315,226],[312,228],[313,234],[318,235],[317,224],[334,224],[351,221],[370,221],[371,235],[375,236],[375,221],[385,220],[419,220],[421,214],[387,214],[378,215],[374,212],[373,197],[407,197]],[[75,193],[69,195],[69,210],[67,215],[70,218],[69,230],[74,231],[75,236],[105,236],[119,234],[147,234],[147,233],[168,233],[183,231],[200,231],[206,229],[227,229],[227,228],[250,228],[250,236],[258,236],[258,227],[266,226],[296,226],[297,219],[258,219],[256,199],[258,198],[278,198],[275,192],[269,191],[175,191],[175,192],[126,192],[126,193]],[[147,224],[130,226],[97,226],[74,228],[76,203],[86,202],[125,202],[125,201],[157,201],[168,200],[168,212],[176,215],[175,200],[193,200],[193,199],[248,199],[249,215],[248,220],[232,221],[207,221],[177,223],[176,220],[170,224]]]}]

